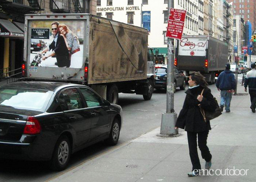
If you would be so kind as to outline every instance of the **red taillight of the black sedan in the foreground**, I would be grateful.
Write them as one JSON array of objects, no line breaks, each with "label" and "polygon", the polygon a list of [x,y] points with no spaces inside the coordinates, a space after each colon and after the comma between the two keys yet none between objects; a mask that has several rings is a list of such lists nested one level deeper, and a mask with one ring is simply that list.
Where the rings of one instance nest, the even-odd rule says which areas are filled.
[{"label": "red taillight of the black sedan in the foreground", "polygon": [[41,126],[37,118],[29,116],[27,118],[26,126],[24,128],[23,134],[39,134],[41,132]]}]

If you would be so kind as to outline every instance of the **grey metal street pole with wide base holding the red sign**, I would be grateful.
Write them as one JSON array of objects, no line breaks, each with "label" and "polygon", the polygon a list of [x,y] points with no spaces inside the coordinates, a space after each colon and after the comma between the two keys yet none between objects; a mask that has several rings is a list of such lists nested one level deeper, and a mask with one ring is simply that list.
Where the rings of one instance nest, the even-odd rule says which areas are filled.
[{"label": "grey metal street pole with wide base holding the red sign", "polygon": [[[173,0],[168,1],[168,11],[173,7]],[[162,114],[160,134],[176,135],[174,129],[177,113],[174,111],[174,45],[173,39],[168,38],[167,85],[166,85],[166,112]]]}]

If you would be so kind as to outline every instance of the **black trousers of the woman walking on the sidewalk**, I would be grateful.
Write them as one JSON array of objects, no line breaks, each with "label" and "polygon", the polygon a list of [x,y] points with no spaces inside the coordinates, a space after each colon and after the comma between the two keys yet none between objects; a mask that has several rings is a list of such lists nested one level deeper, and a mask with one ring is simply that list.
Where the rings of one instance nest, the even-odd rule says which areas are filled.
[{"label": "black trousers of the woman walking on the sidewalk", "polygon": [[210,151],[207,147],[208,133],[209,133],[209,130],[204,132],[198,132],[198,133],[187,131],[189,156],[193,166],[192,170],[201,169],[200,160],[197,153],[197,135],[198,135],[198,147],[201,151],[202,158],[207,162],[211,161],[212,155],[210,154]]}]

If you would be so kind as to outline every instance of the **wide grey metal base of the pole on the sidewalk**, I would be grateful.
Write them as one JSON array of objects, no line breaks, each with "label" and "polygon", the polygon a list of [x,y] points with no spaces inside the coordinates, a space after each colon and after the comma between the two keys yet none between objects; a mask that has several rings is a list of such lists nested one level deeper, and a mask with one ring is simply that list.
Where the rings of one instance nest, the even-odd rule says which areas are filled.
[{"label": "wide grey metal base of the pole on the sidewalk", "polygon": [[176,112],[165,112],[162,114],[160,134],[162,135],[177,135],[178,130],[175,130],[177,120]]}]

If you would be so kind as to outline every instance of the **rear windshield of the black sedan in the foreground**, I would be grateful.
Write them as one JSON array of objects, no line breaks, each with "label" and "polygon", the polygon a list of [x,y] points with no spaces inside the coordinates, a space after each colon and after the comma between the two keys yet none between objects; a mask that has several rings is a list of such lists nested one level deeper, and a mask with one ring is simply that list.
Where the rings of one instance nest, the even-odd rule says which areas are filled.
[{"label": "rear windshield of the black sedan in the foreground", "polygon": [[0,106],[44,112],[52,95],[48,90],[1,88]]}]

